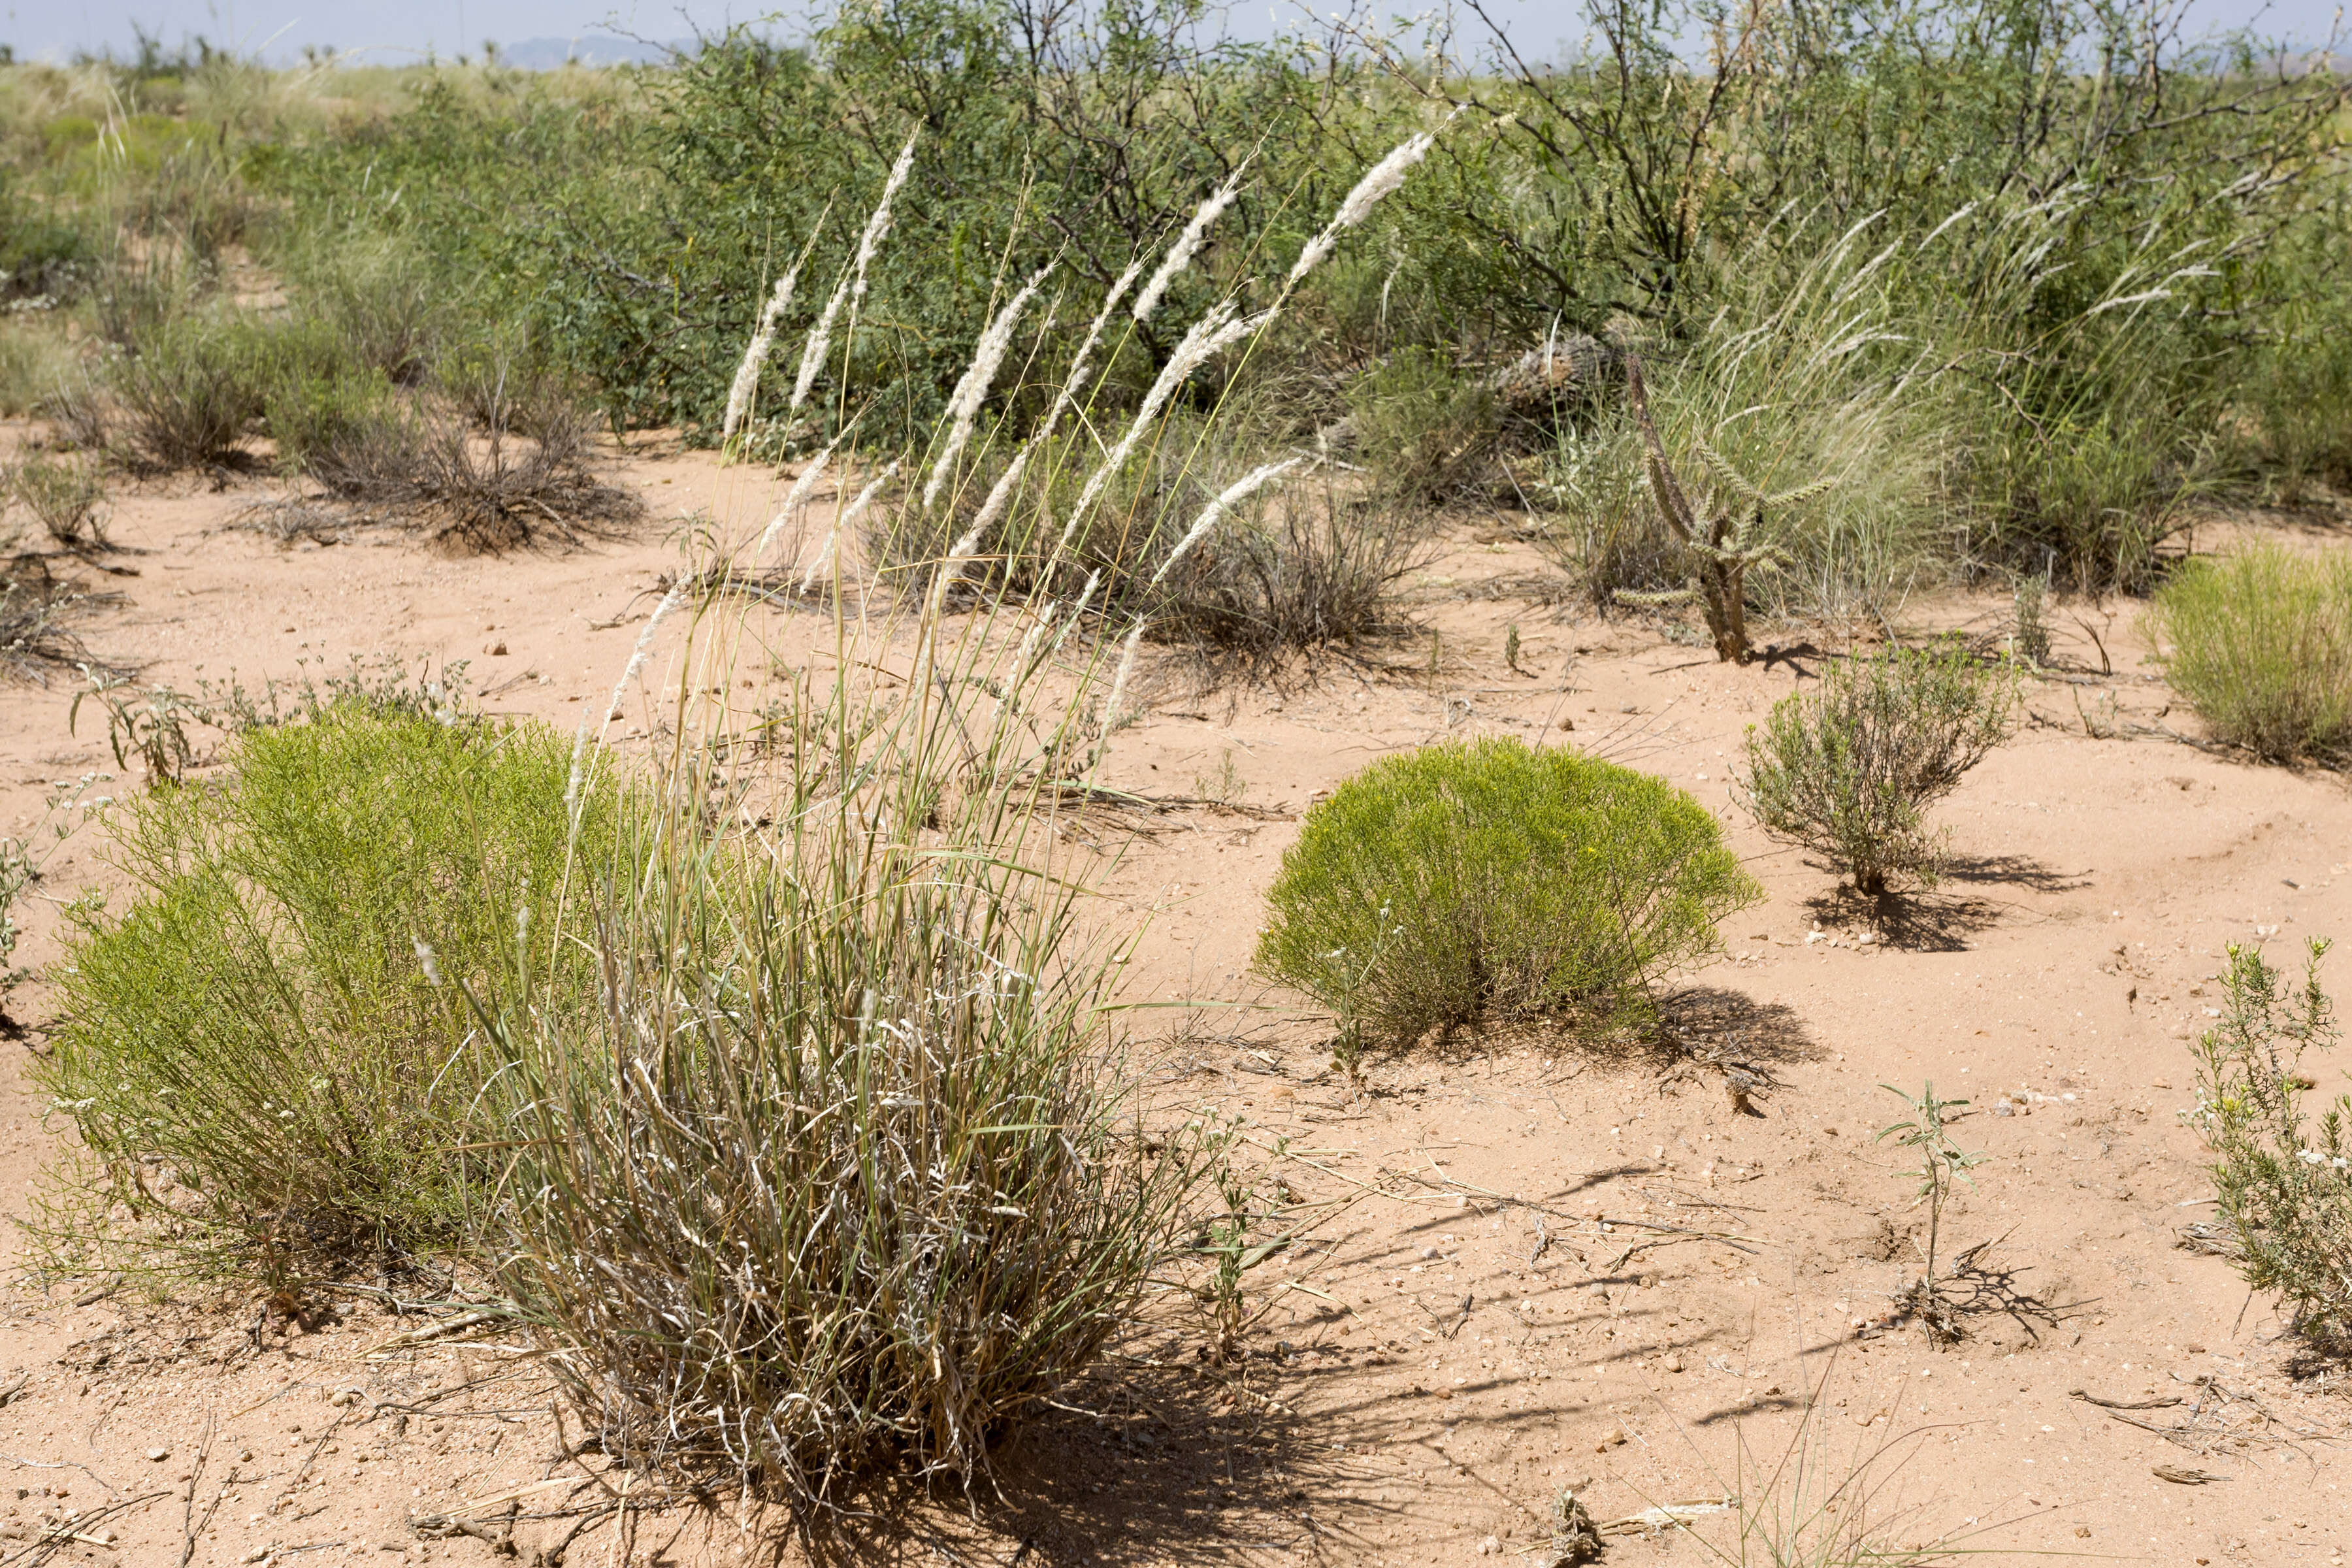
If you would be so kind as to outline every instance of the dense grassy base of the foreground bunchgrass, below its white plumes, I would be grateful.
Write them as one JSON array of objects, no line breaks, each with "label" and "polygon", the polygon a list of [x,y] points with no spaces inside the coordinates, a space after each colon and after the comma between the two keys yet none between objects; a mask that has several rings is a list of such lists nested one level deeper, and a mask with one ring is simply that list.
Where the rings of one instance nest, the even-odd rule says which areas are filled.
[{"label": "dense grassy base of the foreground bunchgrass, below its white plumes", "polygon": [[748,773],[677,755],[668,799],[776,827],[635,818],[630,877],[557,938],[604,1004],[485,1013],[499,1279],[628,1462],[804,1509],[880,1465],[971,1476],[1124,1328],[1181,1218],[1185,1145],[1141,1138],[1115,952],[1035,795],[1082,731],[1063,698],[1035,745],[1018,644],[941,654],[913,693],[795,686]]}]

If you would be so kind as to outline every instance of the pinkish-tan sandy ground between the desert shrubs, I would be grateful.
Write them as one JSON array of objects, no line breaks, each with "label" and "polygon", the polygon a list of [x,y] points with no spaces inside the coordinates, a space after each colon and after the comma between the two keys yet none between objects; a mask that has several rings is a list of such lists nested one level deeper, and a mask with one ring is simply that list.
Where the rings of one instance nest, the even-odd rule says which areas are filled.
[{"label": "pinkish-tan sandy ground between the desert shrubs", "polygon": [[[85,635],[181,689],[348,654],[466,658],[492,710],[569,729],[609,693],[682,524],[741,534],[776,491],[654,440],[623,473],[652,505],[633,538],[503,559],[369,529],[280,548],[235,527],[252,484],[127,489],[108,559],[134,576],[106,578],[120,602]],[[1134,997],[1197,1004],[1138,1013],[1145,1060],[1171,1098],[1279,1145],[1268,1182],[1334,1208],[1261,1274],[1272,1309],[1247,1368],[1204,1368],[1197,1319],[1171,1309],[1000,1453],[995,1490],[969,1507],[875,1497],[837,1556],[1541,1561],[1552,1497],[1573,1486],[1602,1521],[1738,1493],[1992,1561],[2340,1563],[2343,1371],[2286,1340],[2225,1260],[2183,1248],[2211,1187],[2176,1112],[2225,945],[2288,954],[2352,933],[2343,778],[2166,738],[2194,722],[2166,708],[2136,609],[2084,609],[2098,642],[2058,618],[2032,724],[1943,806],[1955,875],[1875,912],[1729,797],[1743,726],[1820,654],[1722,668],[1653,625],[1545,607],[1541,571],[1501,524],[1465,524],[1411,585],[1446,649],[1435,677],[1423,637],[1402,670],[1329,661],[1282,691],[1155,682],[1105,780],[1230,804],[1080,818],[1105,898],[1150,919]],[[2002,614],[1990,597],[1912,607],[1922,625],[1980,630]],[[1524,672],[1503,661],[1512,623]],[[616,733],[659,722],[659,677],[656,661]],[[113,771],[87,708],[68,733],[73,686],[0,689],[0,830],[28,825],[54,780]],[[1218,1004],[1282,1001],[1247,961],[1308,802],[1383,752],[1477,733],[1573,741],[1691,790],[1769,900],[1682,976],[1675,1051],[1463,1041],[1374,1060],[1355,1095],[1310,1023]],[[99,835],[80,835],[40,891],[106,877]],[[54,907],[35,905],[28,961],[54,954],[52,931]],[[2331,969],[2352,990],[2340,957]],[[45,1006],[21,990],[31,1030],[0,1044],[16,1215],[56,1147],[16,1079]],[[1773,1081],[1755,1114],[1710,1060]],[[1959,1246],[1990,1244],[1983,1309],[1947,1352],[1891,1319],[1922,1213],[1872,1138],[1900,1112],[1882,1084],[1924,1079],[1973,1100],[1955,1133],[1987,1154],[1950,1220]],[[2319,1093],[2343,1086],[2343,1063],[2321,1063]],[[14,1284],[0,1563],[800,1552],[741,1497],[572,1455],[579,1429],[527,1347],[430,1338],[435,1321],[365,1293],[287,1324],[249,1300]],[[1849,1472],[1860,1481],[1832,1495]],[[1691,1514],[1698,1537],[1625,1526],[1609,1561],[1708,1561],[1705,1540],[1731,1549],[1729,1519]]]}]

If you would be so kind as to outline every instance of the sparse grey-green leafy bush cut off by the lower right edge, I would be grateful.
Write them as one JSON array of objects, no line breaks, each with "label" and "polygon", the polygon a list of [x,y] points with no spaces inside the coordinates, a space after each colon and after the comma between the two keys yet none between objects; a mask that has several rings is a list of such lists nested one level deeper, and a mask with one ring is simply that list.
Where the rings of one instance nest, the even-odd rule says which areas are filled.
[{"label": "sparse grey-green leafy bush cut off by the lower right edge", "polygon": [[2223,1018],[2197,1041],[2197,1110],[2220,1218],[2256,1291],[2286,1300],[2300,1331],[2352,1338],[2352,1098],[2317,1128],[2303,1119],[2303,1053],[2336,1044],[2312,940],[2300,994],[2253,947],[2230,947]]}]

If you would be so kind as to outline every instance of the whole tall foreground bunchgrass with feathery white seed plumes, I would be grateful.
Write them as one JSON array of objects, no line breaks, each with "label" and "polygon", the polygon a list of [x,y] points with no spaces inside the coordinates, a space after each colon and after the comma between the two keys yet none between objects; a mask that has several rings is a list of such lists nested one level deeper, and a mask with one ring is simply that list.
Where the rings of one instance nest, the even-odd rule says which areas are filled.
[{"label": "whole tall foreground bunchgrass with feathery white seed plumes", "polygon": [[[1404,167],[1376,167],[1294,275]],[[901,179],[903,160],[882,207]],[[884,230],[868,221],[802,362],[856,343]],[[1084,559],[1089,515],[1120,503],[1138,451],[1211,444],[1169,444],[1164,409],[1268,317],[1211,308],[1157,397],[1110,421],[1108,451],[1051,440],[1065,409],[1094,402],[1087,355],[1044,376],[1037,425],[983,433],[1007,322],[1040,287],[1002,284],[997,329],[938,428],[863,454],[858,501],[842,477],[800,574],[833,611],[830,672],[788,684],[757,748],[673,745],[668,804],[630,820],[628,875],[609,879],[595,929],[543,938],[597,954],[595,1013],[529,1001],[527,969],[522,1001],[482,1009],[510,1065],[499,1117],[513,1147],[485,1229],[517,1312],[564,1347],[607,1450],[720,1467],[804,1514],[840,1507],[880,1465],[981,1472],[1131,1319],[1192,1187],[1197,1140],[1148,1138],[1117,1067],[1124,947],[1084,919],[1087,867],[1054,802],[1117,724],[1145,571],[1188,534],[1204,548],[1223,522],[1209,508],[1247,482],[1209,489],[1157,557]],[[826,461],[729,569],[800,541]],[[1183,463],[1167,473],[1200,482]],[[891,475],[903,489],[863,545],[894,592],[851,614],[849,510]],[[1018,576],[1002,571],[1007,541],[1035,541]],[[967,571],[990,585],[974,614]],[[689,581],[710,574],[656,607],[623,689]],[[734,736],[741,719],[708,693],[736,689],[746,628],[708,602],[684,628],[675,733]],[[586,738],[593,778],[609,764]]]}]

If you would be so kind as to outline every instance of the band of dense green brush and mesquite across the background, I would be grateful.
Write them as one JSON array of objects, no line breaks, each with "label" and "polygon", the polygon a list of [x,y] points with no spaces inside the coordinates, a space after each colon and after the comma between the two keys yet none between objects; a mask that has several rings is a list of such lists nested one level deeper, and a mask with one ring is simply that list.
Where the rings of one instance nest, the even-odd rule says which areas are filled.
[{"label": "band of dense green brush and mesquite across the background", "polygon": [[[1597,602],[1691,578],[1642,489],[1628,350],[1679,468],[1705,447],[1731,489],[1804,498],[1745,541],[1762,611],[1870,614],[1992,569],[2145,590],[2187,498],[2352,473],[2343,87],[2251,38],[2183,40],[2124,0],[1743,24],[1590,0],[1548,66],[1451,24],[1242,45],[1200,19],[858,0],[802,47],[736,31],[661,68],[263,71],[202,45],[0,66],[0,404],[151,465],[273,437],[343,494],[414,491],[353,444],[447,449],[501,381],[715,442],[774,280],[840,273],[863,207],[835,195],[861,205],[917,129],[854,341],[790,418],[755,388],[736,440],[807,454],[856,411],[856,444],[906,444],[1009,282],[1056,263],[1009,346],[1037,374],[983,409],[1035,418],[1016,404],[1129,259],[1247,167],[1195,266],[1108,339],[1112,414],[1442,125],[1178,404],[1247,409],[1256,449],[1352,447],[1383,515],[1529,508]],[[783,310],[769,383],[823,306]],[[1204,635],[1183,625],[1160,635]]]}]

